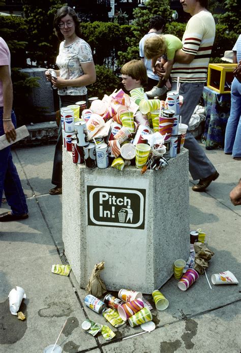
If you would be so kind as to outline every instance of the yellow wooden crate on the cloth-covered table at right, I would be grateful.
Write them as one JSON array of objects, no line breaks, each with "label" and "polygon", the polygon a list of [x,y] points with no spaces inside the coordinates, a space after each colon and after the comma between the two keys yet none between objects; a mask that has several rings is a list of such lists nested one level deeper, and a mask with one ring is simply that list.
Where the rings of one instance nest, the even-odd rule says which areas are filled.
[{"label": "yellow wooden crate on the cloth-covered table at right", "polygon": [[218,93],[230,93],[233,70],[236,65],[236,63],[209,63],[207,87]]}]

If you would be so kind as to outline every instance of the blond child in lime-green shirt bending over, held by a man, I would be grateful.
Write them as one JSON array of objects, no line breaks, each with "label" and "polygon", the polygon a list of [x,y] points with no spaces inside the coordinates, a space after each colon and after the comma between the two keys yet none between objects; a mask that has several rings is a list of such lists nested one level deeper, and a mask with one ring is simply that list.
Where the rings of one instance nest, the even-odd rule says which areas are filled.
[{"label": "blond child in lime-green shirt bending over, held by a man", "polygon": [[175,52],[182,49],[183,44],[179,38],[172,35],[157,35],[148,38],[144,44],[144,53],[147,59],[152,59],[152,68],[155,73],[155,64],[157,59],[166,54],[166,72],[162,75],[157,86],[154,86],[148,92],[145,92],[148,97],[156,97],[165,94],[168,89],[165,86],[168,77],[170,76],[172,65],[174,62]]}]

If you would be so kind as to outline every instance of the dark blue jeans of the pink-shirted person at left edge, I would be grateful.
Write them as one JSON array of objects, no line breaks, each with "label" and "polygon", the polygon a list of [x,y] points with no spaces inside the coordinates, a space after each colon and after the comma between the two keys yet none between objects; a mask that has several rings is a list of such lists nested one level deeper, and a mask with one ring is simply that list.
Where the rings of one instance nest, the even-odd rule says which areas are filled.
[{"label": "dark blue jeans of the pink-shirted person at left edge", "polygon": [[[16,116],[12,111],[12,122],[16,127]],[[4,135],[3,107],[0,107],[0,136]],[[17,169],[13,164],[11,147],[0,150],[0,207],[3,191],[12,214],[22,215],[28,213],[26,199],[23,193],[21,181]]]}]

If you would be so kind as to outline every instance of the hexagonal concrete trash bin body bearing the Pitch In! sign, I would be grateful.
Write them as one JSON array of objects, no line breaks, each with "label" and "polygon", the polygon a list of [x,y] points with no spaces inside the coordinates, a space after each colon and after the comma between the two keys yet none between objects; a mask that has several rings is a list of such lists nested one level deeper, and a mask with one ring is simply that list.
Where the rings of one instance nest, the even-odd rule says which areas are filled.
[{"label": "hexagonal concrete trash bin body bearing the Pitch In! sign", "polygon": [[94,170],[63,151],[63,241],[80,287],[95,264],[107,289],[150,294],[188,259],[188,151],[141,175],[135,167]]}]

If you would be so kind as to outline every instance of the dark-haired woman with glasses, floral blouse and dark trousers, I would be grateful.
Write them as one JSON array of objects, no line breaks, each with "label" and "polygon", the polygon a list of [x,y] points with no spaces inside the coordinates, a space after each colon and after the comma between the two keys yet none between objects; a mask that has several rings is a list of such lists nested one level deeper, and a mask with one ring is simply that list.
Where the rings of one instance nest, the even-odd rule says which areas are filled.
[{"label": "dark-haired woman with glasses, floral blouse and dark trousers", "polygon": [[[56,78],[49,71],[45,75],[53,87],[58,88],[61,107],[75,104],[78,101],[87,102],[85,86],[96,81],[96,71],[91,47],[80,38],[80,26],[76,12],[69,6],[57,10],[53,21],[54,31],[61,44],[56,58],[59,70],[54,70]],[[58,131],[55,147],[52,184],[50,195],[62,194],[62,129]]]}]

